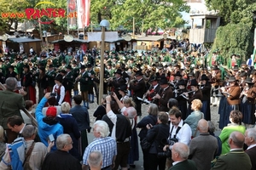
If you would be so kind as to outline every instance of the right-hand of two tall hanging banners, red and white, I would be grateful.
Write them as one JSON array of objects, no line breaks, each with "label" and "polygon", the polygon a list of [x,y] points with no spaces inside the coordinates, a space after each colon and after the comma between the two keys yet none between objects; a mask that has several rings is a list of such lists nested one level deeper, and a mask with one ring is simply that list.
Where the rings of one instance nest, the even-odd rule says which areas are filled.
[{"label": "right-hand of two tall hanging banners, red and white", "polygon": [[79,29],[90,25],[90,0],[77,0]]}]

